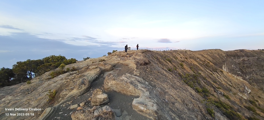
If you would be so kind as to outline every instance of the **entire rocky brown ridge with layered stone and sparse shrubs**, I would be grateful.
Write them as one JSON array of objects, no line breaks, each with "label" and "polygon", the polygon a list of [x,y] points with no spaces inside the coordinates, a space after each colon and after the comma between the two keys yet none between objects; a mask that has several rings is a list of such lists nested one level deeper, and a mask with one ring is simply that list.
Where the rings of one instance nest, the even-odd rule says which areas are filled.
[{"label": "entire rocky brown ridge with layered stone and sparse shrubs", "polygon": [[116,51],[73,67],[0,88],[0,119],[264,119],[263,50]]}]

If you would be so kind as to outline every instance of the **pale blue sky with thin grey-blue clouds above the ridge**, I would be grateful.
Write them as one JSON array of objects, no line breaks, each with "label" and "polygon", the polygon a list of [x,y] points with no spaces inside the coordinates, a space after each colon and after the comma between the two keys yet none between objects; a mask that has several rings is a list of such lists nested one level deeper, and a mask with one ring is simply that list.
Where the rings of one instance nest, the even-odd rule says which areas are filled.
[{"label": "pale blue sky with thin grey-blue clouds above the ridge", "polygon": [[0,0],[0,68],[136,49],[264,49],[262,0]]}]

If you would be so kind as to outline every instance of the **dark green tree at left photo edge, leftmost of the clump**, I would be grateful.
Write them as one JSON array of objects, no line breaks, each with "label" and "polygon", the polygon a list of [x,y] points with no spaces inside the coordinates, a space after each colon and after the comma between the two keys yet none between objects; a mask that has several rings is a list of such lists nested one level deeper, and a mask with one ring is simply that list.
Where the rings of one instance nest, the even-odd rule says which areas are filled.
[{"label": "dark green tree at left photo edge, leftmost of the clump", "polygon": [[11,80],[15,77],[15,73],[12,69],[1,68],[0,69],[0,87],[12,85]]}]

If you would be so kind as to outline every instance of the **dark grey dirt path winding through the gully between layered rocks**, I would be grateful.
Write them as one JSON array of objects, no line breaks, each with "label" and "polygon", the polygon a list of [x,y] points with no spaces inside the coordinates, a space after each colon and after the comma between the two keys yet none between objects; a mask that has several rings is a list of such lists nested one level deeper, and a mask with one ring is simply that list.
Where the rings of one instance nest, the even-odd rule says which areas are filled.
[{"label": "dark grey dirt path winding through the gully between layered rocks", "polygon": [[[48,119],[69,119],[71,120],[70,113],[73,111],[76,111],[76,109],[69,109],[70,105],[74,104],[80,104],[82,102],[85,102],[84,108],[92,108],[90,105],[90,100],[92,96],[92,91],[95,89],[101,89],[104,88],[104,78],[107,74],[111,73],[112,75],[124,75],[126,73],[133,74],[133,69],[130,69],[128,66],[125,66],[123,64],[117,64],[114,66],[113,71],[104,72],[102,73],[98,78],[92,82],[91,88],[88,92],[84,93],[81,96],[71,98],[70,100],[66,101],[65,103],[61,104],[61,106],[58,106],[55,113]],[[109,102],[106,104],[100,105],[101,107],[108,105],[113,109],[113,111],[116,113],[116,119],[117,120],[127,120],[127,119],[137,119],[137,120],[148,120],[147,117],[137,113],[132,108],[132,102],[134,98],[139,98],[139,96],[131,96],[131,95],[125,95],[121,94],[119,92],[115,91],[104,91],[105,94],[108,94]]]}]

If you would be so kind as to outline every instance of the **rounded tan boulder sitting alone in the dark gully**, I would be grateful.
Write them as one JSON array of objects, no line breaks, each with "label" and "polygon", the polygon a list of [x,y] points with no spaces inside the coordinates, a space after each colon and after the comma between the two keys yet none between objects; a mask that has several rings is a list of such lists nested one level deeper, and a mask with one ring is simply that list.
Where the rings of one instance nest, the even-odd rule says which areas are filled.
[{"label": "rounded tan boulder sitting alone in the dark gully", "polygon": [[92,92],[91,105],[101,105],[109,101],[108,95],[103,93],[102,90],[96,89]]}]

